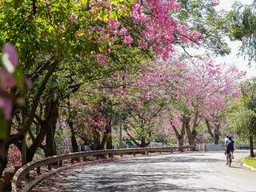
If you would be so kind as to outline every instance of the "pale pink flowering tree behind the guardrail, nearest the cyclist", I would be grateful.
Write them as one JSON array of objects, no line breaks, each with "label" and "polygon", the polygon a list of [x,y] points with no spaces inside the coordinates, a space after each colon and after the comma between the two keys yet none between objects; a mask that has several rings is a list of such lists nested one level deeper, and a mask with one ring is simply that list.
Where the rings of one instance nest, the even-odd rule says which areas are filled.
[{"label": "pale pink flowering tree behind the guardrail, nearest the cyclist", "polygon": [[210,135],[218,143],[221,123],[218,118],[229,105],[230,98],[238,96],[238,81],[244,74],[234,66],[217,64],[212,60],[192,60],[186,63],[182,77],[183,88],[179,90],[178,97],[186,106],[183,114],[188,121],[186,133],[190,145],[195,143],[199,123],[205,120],[208,128],[211,124],[209,130],[214,131],[214,134],[210,132]]}]

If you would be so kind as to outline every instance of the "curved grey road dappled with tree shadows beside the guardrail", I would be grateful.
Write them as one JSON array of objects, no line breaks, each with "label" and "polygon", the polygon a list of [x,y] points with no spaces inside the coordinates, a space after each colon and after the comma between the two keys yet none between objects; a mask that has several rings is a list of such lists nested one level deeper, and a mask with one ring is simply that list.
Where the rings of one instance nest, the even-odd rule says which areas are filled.
[{"label": "curved grey road dappled with tree shadows beside the guardrail", "polygon": [[256,192],[256,173],[236,162],[246,154],[237,152],[231,168],[223,153],[122,159],[70,173],[62,178],[58,191]]}]

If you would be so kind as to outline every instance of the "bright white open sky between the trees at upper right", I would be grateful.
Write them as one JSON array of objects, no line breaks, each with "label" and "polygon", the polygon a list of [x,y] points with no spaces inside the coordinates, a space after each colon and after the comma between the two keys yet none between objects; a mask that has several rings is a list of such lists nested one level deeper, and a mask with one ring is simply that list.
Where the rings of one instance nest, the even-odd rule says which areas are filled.
[{"label": "bright white open sky between the trees at upper right", "polygon": [[[217,10],[230,10],[234,0],[220,0],[219,6],[216,7]],[[250,4],[253,2],[252,0],[240,0],[237,2],[242,2],[243,4]],[[252,66],[248,66],[248,61],[244,60],[242,56],[238,57],[239,46],[241,46],[240,42],[230,42],[227,39],[229,46],[231,48],[231,54],[226,57],[218,57],[216,58],[217,62],[226,62],[230,65],[238,66],[240,70],[245,70],[247,72],[246,78],[250,78],[256,76],[256,63],[252,62]]]}]

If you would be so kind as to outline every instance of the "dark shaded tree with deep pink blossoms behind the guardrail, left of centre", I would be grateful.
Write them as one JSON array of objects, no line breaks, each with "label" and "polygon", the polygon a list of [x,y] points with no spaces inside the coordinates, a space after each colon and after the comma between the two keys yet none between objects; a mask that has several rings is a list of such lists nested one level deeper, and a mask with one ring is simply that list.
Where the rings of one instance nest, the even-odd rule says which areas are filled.
[{"label": "dark shaded tree with deep pink blossoms behind the guardrail, left of centre", "polygon": [[98,95],[90,102],[85,99],[70,101],[71,113],[73,117],[68,122],[73,134],[71,139],[75,137],[92,150],[102,150],[105,145],[107,149],[113,148],[111,130],[115,121],[114,106],[106,94]]}]

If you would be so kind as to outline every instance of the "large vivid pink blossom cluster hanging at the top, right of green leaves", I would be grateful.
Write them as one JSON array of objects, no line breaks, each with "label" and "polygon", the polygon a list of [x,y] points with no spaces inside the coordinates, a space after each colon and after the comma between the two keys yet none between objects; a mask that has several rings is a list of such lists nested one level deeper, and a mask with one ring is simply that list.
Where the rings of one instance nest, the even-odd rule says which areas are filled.
[{"label": "large vivid pink blossom cluster hanging at the top, right of green leaves", "polygon": [[[145,26],[141,31],[144,42],[149,42],[154,52],[164,60],[168,60],[174,51],[174,36],[178,37],[180,42],[190,42],[187,27],[178,25],[171,14],[180,8],[181,3],[162,0],[137,1],[133,6],[134,22]],[[198,38],[198,34],[193,34],[193,37]],[[146,44],[141,47],[145,48]]]}]

